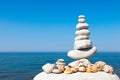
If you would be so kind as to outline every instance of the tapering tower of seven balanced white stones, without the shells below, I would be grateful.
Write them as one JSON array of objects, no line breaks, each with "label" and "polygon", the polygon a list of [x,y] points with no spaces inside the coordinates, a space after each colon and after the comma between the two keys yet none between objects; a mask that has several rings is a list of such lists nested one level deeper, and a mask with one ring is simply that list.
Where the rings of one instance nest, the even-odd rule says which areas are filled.
[{"label": "tapering tower of seven balanced white stones, without the shells below", "polygon": [[76,37],[74,42],[74,50],[68,52],[68,56],[73,59],[88,58],[96,53],[96,47],[93,47],[89,38],[89,25],[86,23],[85,16],[78,17],[78,24],[76,25]]}]

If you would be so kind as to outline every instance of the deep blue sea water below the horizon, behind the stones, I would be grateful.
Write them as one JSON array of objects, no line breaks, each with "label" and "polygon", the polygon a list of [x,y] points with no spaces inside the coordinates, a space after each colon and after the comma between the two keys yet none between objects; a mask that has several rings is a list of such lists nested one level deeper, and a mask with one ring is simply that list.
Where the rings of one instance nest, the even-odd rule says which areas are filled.
[{"label": "deep blue sea water below the horizon, behind the stones", "polygon": [[[42,71],[42,65],[59,58],[65,59],[66,64],[73,61],[67,52],[1,52],[0,80],[33,80]],[[99,52],[89,59],[92,63],[102,60],[112,65],[120,77],[120,53]]]}]

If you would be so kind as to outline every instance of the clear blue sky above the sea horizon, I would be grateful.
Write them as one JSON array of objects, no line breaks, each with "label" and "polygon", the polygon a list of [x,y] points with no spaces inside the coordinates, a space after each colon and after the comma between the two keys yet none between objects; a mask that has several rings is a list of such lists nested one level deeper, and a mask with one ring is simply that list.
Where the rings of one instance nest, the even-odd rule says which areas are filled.
[{"label": "clear blue sky above the sea horizon", "polygon": [[98,51],[120,51],[120,0],[0,0],[0,52],[73,50],[79,15]]}]

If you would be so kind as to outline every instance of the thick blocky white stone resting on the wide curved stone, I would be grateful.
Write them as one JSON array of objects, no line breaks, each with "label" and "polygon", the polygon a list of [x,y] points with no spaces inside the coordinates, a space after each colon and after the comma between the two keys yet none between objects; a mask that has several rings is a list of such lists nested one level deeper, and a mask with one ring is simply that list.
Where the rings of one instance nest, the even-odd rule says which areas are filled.
[{"label": "thick blocky white stone resting on the wide curved stone", "polygon": [[77,40],[74,43],[74,49],[87,49],[92,47],[90,40]]}]

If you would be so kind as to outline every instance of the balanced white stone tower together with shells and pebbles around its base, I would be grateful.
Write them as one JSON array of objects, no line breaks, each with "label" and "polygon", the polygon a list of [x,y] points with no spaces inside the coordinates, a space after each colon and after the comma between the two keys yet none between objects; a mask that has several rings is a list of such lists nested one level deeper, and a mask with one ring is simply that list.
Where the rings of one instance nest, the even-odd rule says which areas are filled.
[{"label": "balanced white stone tower together with shells and pebbles around its base", "polygon": [[88,60],[88,58],[97,51],[89,38],[90,32],[88,28],[89,25],[86,23],[85,16],[79,16],[78,24],[76,25],[77,31],[75,32],[74,50],[68,52],[68,56],[75,59],[75,61],[65,66],[64,59],[58,59],[55,64],[47,63],[43,65],[43,71],[47,74],[72,74],[76,72],[95,73],[99,71],[113,74],[113,67],[105,62],[98,61],[93,64]]}]

